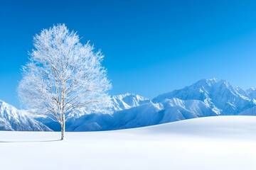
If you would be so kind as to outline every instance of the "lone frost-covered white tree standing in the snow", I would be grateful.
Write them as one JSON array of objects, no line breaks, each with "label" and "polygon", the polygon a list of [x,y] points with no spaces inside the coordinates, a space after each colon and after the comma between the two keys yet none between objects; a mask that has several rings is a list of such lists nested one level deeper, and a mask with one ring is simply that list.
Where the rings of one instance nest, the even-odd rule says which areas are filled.
[{"label": "lone frost-covered white tree standing in the snow", "polygon": [[102,52],[82,45],[77,33],[63,25],[44,29],[34,38],[34,49],[23,67],[18,96],[33,114],[60,123],[61,139],[65,121],[80,108],[107,111],[111,89]]}]

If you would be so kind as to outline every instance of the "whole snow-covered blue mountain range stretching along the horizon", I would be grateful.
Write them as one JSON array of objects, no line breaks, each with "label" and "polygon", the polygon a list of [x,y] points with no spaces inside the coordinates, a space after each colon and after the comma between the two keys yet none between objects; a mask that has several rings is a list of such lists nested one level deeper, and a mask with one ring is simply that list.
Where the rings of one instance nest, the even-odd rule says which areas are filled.
[{"label": "whole snow-covered blue mountain range stretching along the horizon", "polygon": [[[111,96],[112,114],[90,113],[81,109],[68,120],[66,130],[117,130],[216,115],[256,115],[255,99],[256,89],[254,88],[244,91],[225,80],[201,79],[191,86],[156,96],[152,101],[135,94]],[[11,113],[19,113],[14,107],[12,108]],[[1,109],[1,114],[10,112],[4,110]],[[3,114],[2,117],[4,117]],[[27,121],[33,121],[33,118],[28,116],[24,118]],[[17,124],[19,119],[24,118],[17,118]],[[52,130],[60,130],[60,125],[50,119],[36,118],[36,120]],[[38,123],[36,120],[34,122]],[[5,119],[4,122],[8,120]],[[7,124],[3,125],[11,127],[11,124]],[[33,130],[33,128],[28,129]]]}]

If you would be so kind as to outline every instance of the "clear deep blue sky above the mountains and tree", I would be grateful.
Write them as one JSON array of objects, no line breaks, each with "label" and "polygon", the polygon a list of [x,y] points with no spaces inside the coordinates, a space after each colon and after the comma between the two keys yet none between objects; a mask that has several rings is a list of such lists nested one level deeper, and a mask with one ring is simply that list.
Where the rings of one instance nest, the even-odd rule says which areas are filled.
[{"label": "clear deep blue sky above the mountains and tree", "polygon": [[256,1],[1,1],[0,100],[16,87],[32,38],[65,23],[105,54],[113,89],[154,98],[199,79],[256,86]]}]

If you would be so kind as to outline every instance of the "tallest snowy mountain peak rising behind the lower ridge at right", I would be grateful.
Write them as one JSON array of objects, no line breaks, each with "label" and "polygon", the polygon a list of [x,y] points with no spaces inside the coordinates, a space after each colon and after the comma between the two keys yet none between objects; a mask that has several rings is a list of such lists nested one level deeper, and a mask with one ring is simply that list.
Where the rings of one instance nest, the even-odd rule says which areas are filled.
[{"label": "tallest snowy mountain peak rising behind the lower ridge at right", "polygon": [[161,94],[152,101],[159,103],[165,98],[203,101],[218,115],[235,115],[256,106],[246,91],[220,79],[201,79],[191,86]]}]

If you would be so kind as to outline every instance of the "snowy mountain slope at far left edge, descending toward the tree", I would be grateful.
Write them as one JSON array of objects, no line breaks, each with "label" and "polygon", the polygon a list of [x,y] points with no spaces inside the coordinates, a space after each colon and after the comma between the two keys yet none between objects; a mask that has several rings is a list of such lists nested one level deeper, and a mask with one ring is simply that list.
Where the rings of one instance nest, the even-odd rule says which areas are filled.
[{"label": "snowy mountain slope at far left edge, descending toward the tree", "polygon": [[29,118],[24,111],[18,111],[4,101],[0,101],[0,130],[51,131],[43,123]]}]

